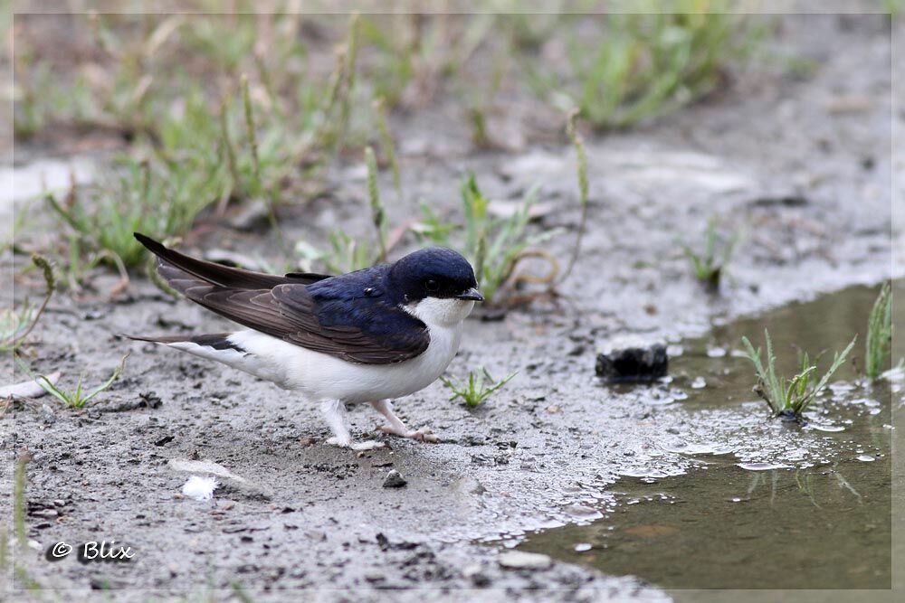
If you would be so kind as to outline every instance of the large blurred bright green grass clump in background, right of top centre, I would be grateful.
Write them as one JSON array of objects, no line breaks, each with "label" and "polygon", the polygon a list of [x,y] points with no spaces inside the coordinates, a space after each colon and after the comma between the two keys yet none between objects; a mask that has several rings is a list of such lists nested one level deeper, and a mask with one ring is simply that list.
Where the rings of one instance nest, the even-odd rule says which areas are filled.
[{"label": "large blurred bright green grass clump in background, right of top centre", "polygon": [[630,127],[716,90],[729,62],[747,58],[760,37],[744,16],[718,10],[724,3],[678,0],[669,13],[654,4],[596,15],[603,34],[572,36],[566,70],[529,66],[532,88],[576,106],[595,127]]}]

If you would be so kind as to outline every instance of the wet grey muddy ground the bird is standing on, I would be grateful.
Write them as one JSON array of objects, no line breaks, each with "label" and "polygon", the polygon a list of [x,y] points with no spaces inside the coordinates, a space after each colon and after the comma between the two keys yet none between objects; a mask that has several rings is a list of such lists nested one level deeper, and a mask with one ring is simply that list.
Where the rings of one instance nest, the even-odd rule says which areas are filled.
[{"label": "wet grey muddy ground the bird is standing on", "polygon": [[[677,441],[730,446],[749,462],[791,449],[803,451],[802,462],[824,453],[814,432],[779,429],[748,407],[702,420],[673,401],[679,396],[669,385],[616,391],[594,376],[595,350],[624,334],[677,341],[714,322],[901,273],[891,265],[891,174],[901,166],[890,155],[888,22],[877,15],[783,22],[782,42],[817,61],[813,73],[758,71],[651,126],[586,135],[589,231],[562,296],[498,321],[470,320],[450,367],[459,377],[481,365],[519,375],[478,410],[449,401],[439,383],[396,405],[412,426],[430,426],[438,444],[386,439],[391,449],[363,455],[331,448],[318,410],[291,393],[120,338],[227,328],[141,278],[113,303],[106,300],[112,275],[96,279],[94,298],[54,297],[29,344],[37,370],[70,379],[86,372],[93,383],[132,355],[89,410],[62,410],[45,398],[16,405],[14,424],[5,419],[5,457],[32,456],[28,537],[40,550],[20,557],[28,574],[60,589],[63,600],[103,588],[118,589],[116,600],[194,600],[214,591],[239,600],[236,589],[253,600],[668,598],[640,579],[567,563],[503,569],[494,541],[595,518],[615,504],[608,487],[620,474],[693,468],[669,451]],[[517,154],[478,154],[461,120],[461,111],[441,107],[395,123],[407,141],[406,194],[390,204],[392,221],[420,198],[454,207],[458,179],[470,168],[496,198],[541,184],[542,201],[557,209],[539,226],[575,230],[570,149],[529,137]],[[362,176],[358,165],[338,170],[332,201],[285,216],[288,238],[316,241],[317,228],[338,223],[366,233]],[[719,297],[691,278],[675,242],[702,240],[712,214],[743,236]],[[566,234],[547,249],[566,257],[572,240]],[[266,236],[228,230],[191,242],[195,251],[272,250]],[[10,258],[3,261],[8,270]],[[36,295],[14,288],[16,300],[29,293]],[[350,415],[354,433],[377,437],[373,411]],[[189,473],[174,459],[211,461],[243,480],[222,478],[214,504],[186,499],[179,490]],[[405,487],[381,486],[391,468]],[[88,565],[43,558],[52,542],[100,539],[128,543],[135,558]]]}]

